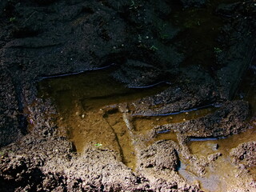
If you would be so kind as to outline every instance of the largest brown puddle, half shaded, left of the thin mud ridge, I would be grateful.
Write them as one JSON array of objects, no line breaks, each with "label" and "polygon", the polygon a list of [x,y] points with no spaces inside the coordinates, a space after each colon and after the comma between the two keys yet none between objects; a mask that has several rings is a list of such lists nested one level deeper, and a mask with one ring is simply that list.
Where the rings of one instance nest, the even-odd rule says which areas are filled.
[{"label": "largest brown puddle, half shaded, left of the thin mud ridge", "polygon": [[52,99],[58,110],[59,134],[74,142],[78,153],[88,145],[114,150],[134,169],[134,134],[119,108],[124,102],[157,94],[168,86],[127,88],[110,77],[111,70],[46,78],[38,84],[38,97]]}]

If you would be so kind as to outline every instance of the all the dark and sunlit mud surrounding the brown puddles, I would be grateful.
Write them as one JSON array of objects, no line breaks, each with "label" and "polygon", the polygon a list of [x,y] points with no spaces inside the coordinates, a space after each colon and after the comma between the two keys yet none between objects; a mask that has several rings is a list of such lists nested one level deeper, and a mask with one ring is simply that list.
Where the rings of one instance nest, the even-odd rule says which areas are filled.
[{"label": "all the dark and sunlit mud surrounding the brown puddles", "polygon": [[[210,19],[190,17],[204,10],[211,11]],[[198,159],[190,154],[190,139],[226,137],[251,127],[252,106],[234,96],[246,70],[255,68],[254,1],[2,0],[0,14],[1,191],[203,191],[199,182],[179,174],[180,160],[187,159],[203,177],[221,154]],[[218,24],[209,27],[210,22]],[[111,77],[130,88],[168,85],[116,106],[130,133],[129,115],[216,110],[154,127],[149,138],[172,130],[177,141],[134,147],[135,169],[115,150],[120,145],[89,145],[78,155],[58,134],[56,106],[38,98],[37,83],[107,66],[114,67]],[[255,142],[230,150],[241,182],[226,191],[256,190],[255,178],[246,174],[254,157]]]}]

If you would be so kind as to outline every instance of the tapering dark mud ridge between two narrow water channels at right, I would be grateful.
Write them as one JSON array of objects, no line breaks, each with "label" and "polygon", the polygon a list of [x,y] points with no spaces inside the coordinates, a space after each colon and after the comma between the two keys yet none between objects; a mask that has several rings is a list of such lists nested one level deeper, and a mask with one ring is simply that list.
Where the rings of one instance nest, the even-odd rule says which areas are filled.
[{"label": "tapering dark mud ridge between two narrow water channels at right", "polygon": [[166,124],[156,128],[156,131],[174,130],[182,137],[191,138],[218,138],[230,134],[238,134],[248,129],[246,118],[249,118],[247,102],[226,102],[213,114],[176,124]]}]

